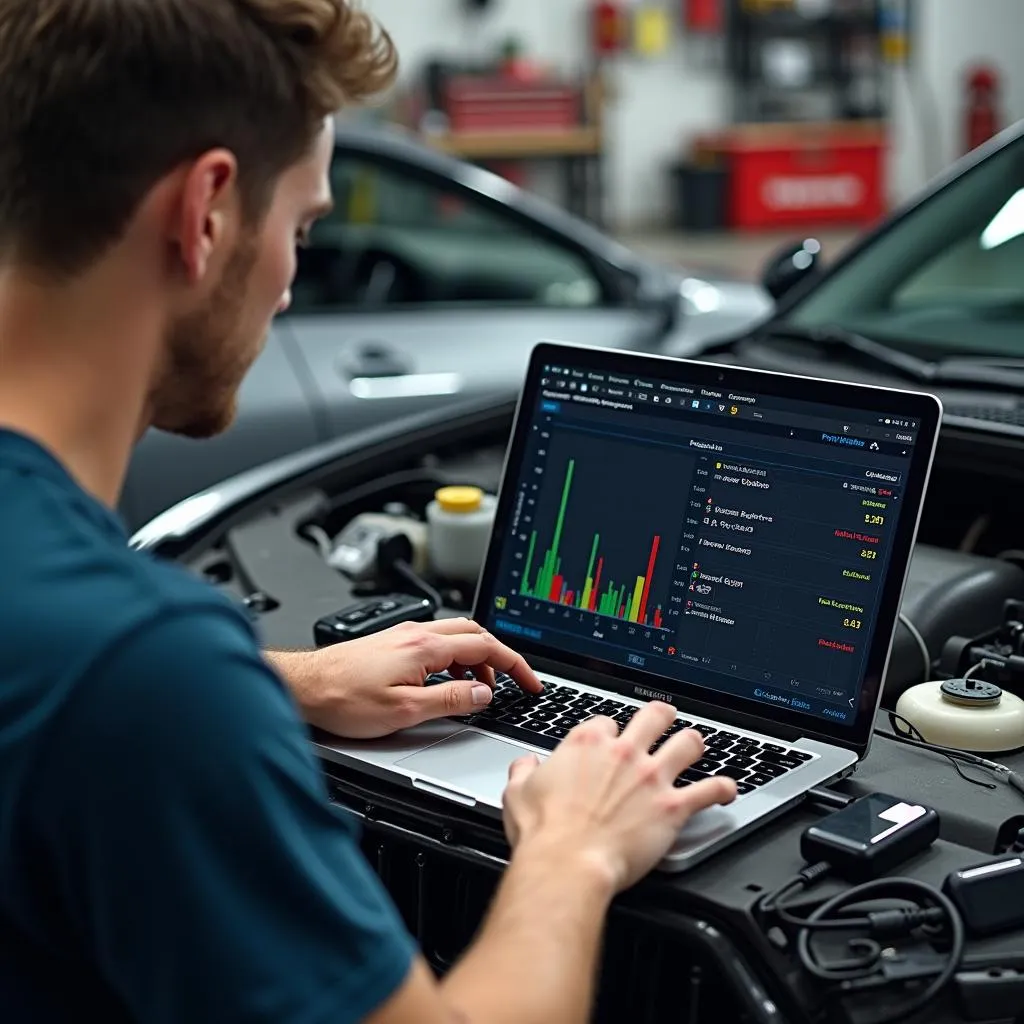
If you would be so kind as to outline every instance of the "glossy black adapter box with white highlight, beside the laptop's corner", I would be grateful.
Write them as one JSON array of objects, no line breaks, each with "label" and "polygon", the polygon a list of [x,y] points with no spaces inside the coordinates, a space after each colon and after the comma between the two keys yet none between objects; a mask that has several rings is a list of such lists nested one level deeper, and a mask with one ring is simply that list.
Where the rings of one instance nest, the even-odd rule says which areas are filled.
[{"label": "glossy black adapter box with white highlight, beside the laptop's corner", "polygon": [[871,793],[808,826],[800,852],[849,882],[881,878],[939,838],[939,815],[885,793]]}]

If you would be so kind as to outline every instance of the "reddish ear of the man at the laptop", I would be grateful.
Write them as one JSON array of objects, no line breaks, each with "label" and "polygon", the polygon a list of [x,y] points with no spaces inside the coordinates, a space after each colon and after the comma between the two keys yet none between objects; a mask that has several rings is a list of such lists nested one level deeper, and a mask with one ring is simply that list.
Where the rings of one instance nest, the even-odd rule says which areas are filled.
[{"label": "reddish ear of the man at the laptop", "polygon": [[183,172],[171,234],[189,284],[206,276],[215,254],[230,241],[237,184],[238,162],[227,150],[203,154]]}]

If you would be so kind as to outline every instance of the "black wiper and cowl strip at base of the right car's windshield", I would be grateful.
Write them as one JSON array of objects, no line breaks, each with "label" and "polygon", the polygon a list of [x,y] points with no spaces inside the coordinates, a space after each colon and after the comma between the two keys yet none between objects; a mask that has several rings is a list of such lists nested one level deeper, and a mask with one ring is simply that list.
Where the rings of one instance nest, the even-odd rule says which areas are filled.
[{"label": "black wiper and cowl strip at base of the right car's windshield", "polygon": [[939,362],[923,359],[908,352],[890,348],[862,334],[841,327],[803,327],[779,321],[766,324],[753,335],[733,338],[710,345],[701,356],[735,353],[746,340],[792,339],[808,342],[823,355],[837,355],[845,364],[888,373],[914,384],[975,387],[982,390],[1009,391],[1024,387],[1024,362],[1007,359],[985,364],[963,357]]}]

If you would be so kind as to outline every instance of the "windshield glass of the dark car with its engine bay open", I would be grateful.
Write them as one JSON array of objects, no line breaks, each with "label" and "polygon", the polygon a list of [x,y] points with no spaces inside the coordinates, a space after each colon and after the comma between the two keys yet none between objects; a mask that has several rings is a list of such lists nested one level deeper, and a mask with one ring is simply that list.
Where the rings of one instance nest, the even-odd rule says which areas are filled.
[{"label": "windshield glass of the dark car with its engine bay open", "polygon": [[895,223],[784,319],[936,357],[1024,357],[1024,136]]}]

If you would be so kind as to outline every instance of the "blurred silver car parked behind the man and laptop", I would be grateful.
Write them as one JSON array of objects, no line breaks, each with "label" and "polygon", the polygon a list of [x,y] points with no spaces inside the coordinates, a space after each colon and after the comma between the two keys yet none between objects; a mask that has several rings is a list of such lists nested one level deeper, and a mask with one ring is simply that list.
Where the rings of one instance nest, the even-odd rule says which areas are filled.
[{"label": "blurred silver car parked behind the man and laptop", "polygon": [[292,309],[237,423],[146,435],[135,527],[225,477],[456,396],[508,392],[540,338],[683,351],[767,315],[759,286],[652,264],[585,221],[397,129],[340,125],[335,212],[299,252]]}]

